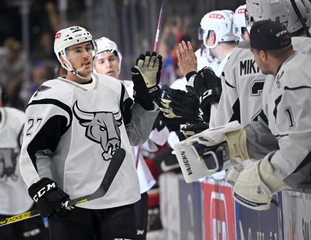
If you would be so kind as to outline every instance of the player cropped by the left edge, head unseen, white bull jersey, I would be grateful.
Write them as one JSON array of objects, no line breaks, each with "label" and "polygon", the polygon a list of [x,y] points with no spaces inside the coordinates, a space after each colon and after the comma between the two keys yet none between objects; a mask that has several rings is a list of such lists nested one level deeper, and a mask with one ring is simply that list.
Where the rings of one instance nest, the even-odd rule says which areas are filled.
[{"label": "player cropped by the left edge, head unseen, white bull jersey", "polygon": [[[20,174],[19,154],[23,139],[25,113],[3,107],[0,88],[0,219],[35,209]],[[28,221],[0,227],[0,239],[48,240],[43,219],[38,216]]]}]

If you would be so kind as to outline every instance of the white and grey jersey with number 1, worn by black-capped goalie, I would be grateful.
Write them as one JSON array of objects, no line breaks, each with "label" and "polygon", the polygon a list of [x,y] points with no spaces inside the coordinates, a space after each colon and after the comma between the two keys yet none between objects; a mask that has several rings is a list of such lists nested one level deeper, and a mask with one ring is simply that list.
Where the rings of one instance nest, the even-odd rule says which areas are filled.
[{"label": "white and grey jersey with number 1, worn by black-capped goalie", "polygon": [[267,79],[264,85],[263,110],[280,148],[270,162],[288,186],[310,178],[310,66],[310,53],[295,52],[280,66],[276,77]]}]

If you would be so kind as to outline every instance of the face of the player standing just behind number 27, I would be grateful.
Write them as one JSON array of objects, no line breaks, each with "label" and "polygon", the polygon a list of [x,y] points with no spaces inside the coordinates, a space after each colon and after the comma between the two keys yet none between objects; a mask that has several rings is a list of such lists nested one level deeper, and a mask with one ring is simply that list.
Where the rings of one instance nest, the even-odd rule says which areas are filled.
[{"label": "face of the player standing just behind number 27", "polygon": [[119,78],[119,57],[109,51],[100,53],[95,58],[97,73]]}]

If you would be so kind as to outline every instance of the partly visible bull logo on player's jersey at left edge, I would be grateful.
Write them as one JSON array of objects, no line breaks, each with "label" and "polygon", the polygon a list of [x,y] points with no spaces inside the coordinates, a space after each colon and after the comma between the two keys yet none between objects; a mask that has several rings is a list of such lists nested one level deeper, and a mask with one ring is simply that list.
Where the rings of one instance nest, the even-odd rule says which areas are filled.
[{"label": "partly visible bull logo on player's jersey at left edge", "polygon": [[13,181],[17,180],[17,175],[15,174],[16,168],[16,157],[12,148],[0,148],[0,181],[4,180],[6,182],[8,178]]}]

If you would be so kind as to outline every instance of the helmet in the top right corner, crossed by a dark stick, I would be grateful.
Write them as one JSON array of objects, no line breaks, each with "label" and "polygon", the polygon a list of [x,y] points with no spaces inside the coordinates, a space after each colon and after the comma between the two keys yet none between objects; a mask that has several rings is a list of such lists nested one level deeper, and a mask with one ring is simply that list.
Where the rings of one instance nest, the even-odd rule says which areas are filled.
[{"label": "helmet in the top right corner, crossed by a dark stick", "polygon": [[[287,30],[289,32],[295,32],[302,28],[302,24],[290,2],[288,1],[288,11],[289,11],[289,18],[288,18],[288,26]],[[311,3],[309,0],[295,0],[296,5],[301,13],[301,16],[304,18],[305,23],[308,29],[311,27]]]}]

